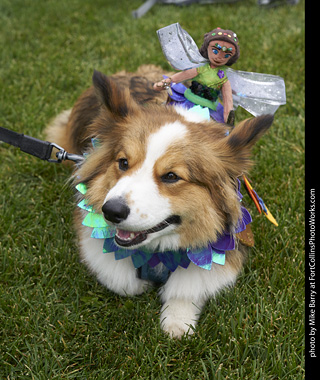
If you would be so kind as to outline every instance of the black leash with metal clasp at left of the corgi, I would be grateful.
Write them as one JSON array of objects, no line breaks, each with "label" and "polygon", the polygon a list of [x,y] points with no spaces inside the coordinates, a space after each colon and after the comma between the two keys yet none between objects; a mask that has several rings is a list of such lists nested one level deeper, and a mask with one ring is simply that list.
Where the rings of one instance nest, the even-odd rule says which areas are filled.
[{"label": "black leash with metal clasp at left of the corgi", "polygon": [[[3,127],[0,127],[0,141],[13,145],[24,153],[31,154],[48,162],[61,163],[62,161],[70,160],[76,164],[80,164],[84,160],[82,155],[68,153],[55,143],[35,139],[34,137],[17,133]],[[51,158],[53,148],[58,150],[55,159]]]}]

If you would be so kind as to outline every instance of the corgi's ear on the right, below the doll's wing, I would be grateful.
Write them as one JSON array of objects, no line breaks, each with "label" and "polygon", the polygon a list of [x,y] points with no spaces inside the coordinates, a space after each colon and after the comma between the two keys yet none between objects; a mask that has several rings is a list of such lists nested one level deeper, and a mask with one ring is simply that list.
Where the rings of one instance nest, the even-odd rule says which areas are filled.
[{"label": "corgi's ear on the right, below the doll's wing", "polygon": [[[250,167],[250,154],[254,144],[271,127],[273,115],[262,115],[239,123],[227,137],[227,147],[235,169],[240,175]],[[232,170],[233,171],[233,170]],[[238,172],[238,173],[236,173]]]}]

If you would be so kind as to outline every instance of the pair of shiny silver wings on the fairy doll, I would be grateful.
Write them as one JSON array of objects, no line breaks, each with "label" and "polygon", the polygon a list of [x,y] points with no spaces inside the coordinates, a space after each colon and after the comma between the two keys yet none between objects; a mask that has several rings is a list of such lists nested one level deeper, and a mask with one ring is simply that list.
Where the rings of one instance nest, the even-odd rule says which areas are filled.
[{"label": "pair of shiny silver wings on the fairy doll", "polygon": [[[187,70],[208,62],[199,53],[192,37],[179,23],[159,29],[157,35],[162,51],[174,69]],[[235,109],[241,106],[253,116],[259,116],[274,114],[280,105],[286,104],[285,83],[279,76],[229,68],[227,75]]]}]

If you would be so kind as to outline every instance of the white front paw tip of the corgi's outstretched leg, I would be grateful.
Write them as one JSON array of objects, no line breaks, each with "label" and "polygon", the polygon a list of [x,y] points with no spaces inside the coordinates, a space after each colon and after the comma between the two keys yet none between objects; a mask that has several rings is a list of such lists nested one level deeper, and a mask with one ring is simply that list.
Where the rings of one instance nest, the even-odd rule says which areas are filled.
[{"label": "white front paw tip of the corgi's outstretched leg", "polygon": [[188,300],[171,299],[161,310],[161,327],[172,338],[193,334],[201,309]]}]

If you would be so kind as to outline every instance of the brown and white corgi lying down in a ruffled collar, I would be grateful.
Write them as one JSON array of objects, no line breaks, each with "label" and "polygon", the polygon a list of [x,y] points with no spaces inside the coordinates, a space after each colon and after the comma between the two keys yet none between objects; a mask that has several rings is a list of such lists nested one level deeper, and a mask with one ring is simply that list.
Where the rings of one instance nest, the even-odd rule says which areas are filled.
[{"label": "brown and white corgi lying down in a ruffled collar", "polygon": [[95,71],[93,86],[52,122],[47,137],[85,154],[72,177],[82,261],[102,285],[126,296],[161,282],[148,271],[157,279],[169,272],[159,288],[160,324],[180,338],[194,332],[206,301],[241,271],[246,249],[238,232],[251,220],[238,177],[250,169],[251,148],[273,116],[233,128],[166,105],[152,89],[159,72]]}]

